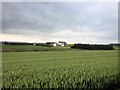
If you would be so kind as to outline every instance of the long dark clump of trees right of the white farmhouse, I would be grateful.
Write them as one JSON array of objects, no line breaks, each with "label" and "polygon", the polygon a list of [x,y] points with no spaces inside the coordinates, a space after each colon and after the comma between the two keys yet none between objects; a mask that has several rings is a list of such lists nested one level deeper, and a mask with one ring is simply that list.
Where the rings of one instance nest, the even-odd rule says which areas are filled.
[{"label": "long dark clump of trees right of the white farmhouse", "polygon": [[74,44],[71,46],[73,49],[85,49],[85,50],[114,50],[112,45],[98,45],[98,44]]}]

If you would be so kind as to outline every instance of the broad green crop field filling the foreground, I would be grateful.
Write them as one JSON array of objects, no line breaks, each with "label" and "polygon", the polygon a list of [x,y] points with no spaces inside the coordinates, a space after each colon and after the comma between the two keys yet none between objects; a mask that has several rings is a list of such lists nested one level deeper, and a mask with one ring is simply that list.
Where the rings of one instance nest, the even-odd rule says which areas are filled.
[{"label": "broad green crop field filling the foreground", "polygon": [[3,88],[119,88],[117,50],[3,52]]}]

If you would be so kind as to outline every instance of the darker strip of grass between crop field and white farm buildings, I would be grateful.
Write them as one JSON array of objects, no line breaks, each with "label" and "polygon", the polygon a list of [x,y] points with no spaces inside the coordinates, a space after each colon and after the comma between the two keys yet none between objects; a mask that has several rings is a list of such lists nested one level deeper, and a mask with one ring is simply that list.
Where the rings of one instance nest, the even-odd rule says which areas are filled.
[{"label": "darker strip of grass between crop field and white farm buildings", "polygon": [[71,50],[70,47],[47,47],[33,45],[3,45],[3,52],[25,52],[25,51],[66,51]]}]

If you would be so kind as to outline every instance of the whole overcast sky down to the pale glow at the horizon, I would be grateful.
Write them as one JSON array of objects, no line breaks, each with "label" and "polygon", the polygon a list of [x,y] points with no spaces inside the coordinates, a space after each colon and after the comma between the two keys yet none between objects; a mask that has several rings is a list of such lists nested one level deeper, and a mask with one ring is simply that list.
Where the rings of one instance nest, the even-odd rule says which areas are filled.
[{"label": "whole overcast sky down to the pale glow at the horizon", "polygon": [[118,42],[117,2],[3,2],[3,41]]}]

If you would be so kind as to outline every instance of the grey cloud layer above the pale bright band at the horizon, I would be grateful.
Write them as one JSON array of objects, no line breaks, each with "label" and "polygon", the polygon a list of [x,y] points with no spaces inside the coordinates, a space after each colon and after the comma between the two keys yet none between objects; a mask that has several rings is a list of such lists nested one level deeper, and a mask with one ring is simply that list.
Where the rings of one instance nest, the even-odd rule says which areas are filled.
[{"label": "grey cloud layer above the pale bright band at the horizon", "polygon": [[50,37],[60,30],[71,30],[94,32],[94,38],[115,40],[118,33],[116,5],[117,3],[4,2],[3,33]]}]

